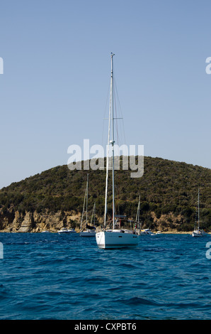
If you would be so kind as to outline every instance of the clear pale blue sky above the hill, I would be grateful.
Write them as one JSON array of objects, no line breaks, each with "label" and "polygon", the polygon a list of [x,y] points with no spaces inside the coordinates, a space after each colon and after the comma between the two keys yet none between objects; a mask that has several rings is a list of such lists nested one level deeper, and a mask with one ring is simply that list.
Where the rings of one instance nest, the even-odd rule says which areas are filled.
[{"label": "clear pale blue sky above the hill", "polygon": [[127,144],[211,168],[210,1],[2,0],[0,17],[0,188],[102,144],[111,52]]}]

